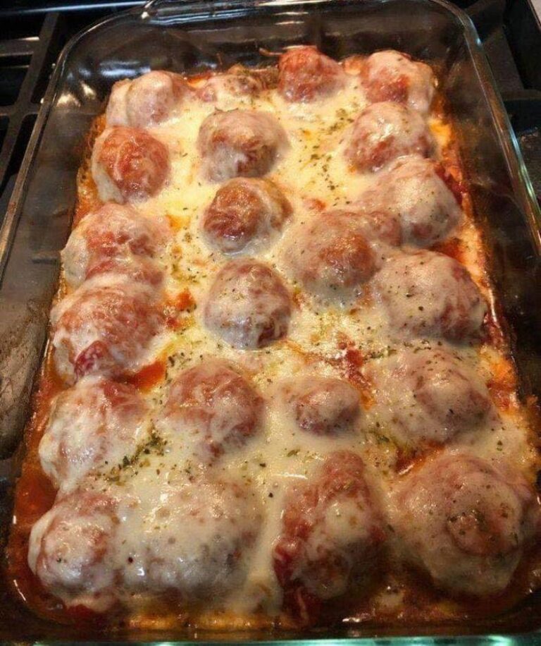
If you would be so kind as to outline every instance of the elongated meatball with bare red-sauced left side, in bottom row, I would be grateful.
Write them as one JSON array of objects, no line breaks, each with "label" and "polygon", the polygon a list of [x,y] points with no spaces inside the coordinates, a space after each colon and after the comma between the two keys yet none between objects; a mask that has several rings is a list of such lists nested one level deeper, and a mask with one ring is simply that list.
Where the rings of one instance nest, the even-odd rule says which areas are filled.
[{"label": "elongated meatball with bare red-sauced left side, in bottom row", "polygon": [[285,608],[312,623],[323,602],[362,595],[384,538],[363,461],[351,451],[331,453],[286,496],[273,549]]}]

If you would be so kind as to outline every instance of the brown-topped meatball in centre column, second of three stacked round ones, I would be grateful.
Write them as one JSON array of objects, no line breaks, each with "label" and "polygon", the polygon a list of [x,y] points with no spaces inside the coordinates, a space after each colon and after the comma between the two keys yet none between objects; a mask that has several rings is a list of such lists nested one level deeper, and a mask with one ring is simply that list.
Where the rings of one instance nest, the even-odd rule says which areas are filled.
[{"label": "brown-topped meatball in centre column, second of three stacked round ones", "polygon": [[292,208],[269,180],[236,178],[218,189],[203,215],[206,241],[223,253],[262,245],[281,230]]}]

